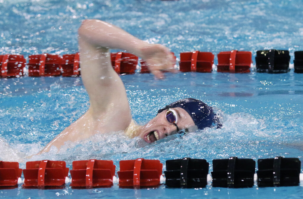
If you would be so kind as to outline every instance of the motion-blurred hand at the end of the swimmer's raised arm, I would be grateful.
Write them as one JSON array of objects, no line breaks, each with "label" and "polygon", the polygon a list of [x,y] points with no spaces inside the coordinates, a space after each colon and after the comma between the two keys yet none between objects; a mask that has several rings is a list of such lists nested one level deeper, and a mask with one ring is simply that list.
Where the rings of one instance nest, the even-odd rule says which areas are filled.
[{"label": "motion-blurred hand at the end of the swimmer's raised arm", "polygon": [[141,58],[147,63],[148,69],[158,79],[164,78],[164,71],[177,72],[174,69],[175,59],[169,49],[160,44],[148,44],[141,49]]}]

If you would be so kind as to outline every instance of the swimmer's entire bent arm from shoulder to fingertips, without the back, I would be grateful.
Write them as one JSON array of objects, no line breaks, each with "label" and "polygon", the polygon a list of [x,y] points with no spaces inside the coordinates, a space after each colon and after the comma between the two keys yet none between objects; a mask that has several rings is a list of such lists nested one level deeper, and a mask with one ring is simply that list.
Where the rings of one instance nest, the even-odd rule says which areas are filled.
[{"label": "swimmer's entire bent arm from shoulder to fingertips, without the back", "polygon": [[113,103],[113,100],[129,107],[123,83],[112,68],[109,48],[126,50],[141,57],[157,78],[164,77],[162,70],[173,70],[168,48],[148,44],[112,24],[85,20],[78,33],[82,80],[97,115],[104,111],[106,103]]}]

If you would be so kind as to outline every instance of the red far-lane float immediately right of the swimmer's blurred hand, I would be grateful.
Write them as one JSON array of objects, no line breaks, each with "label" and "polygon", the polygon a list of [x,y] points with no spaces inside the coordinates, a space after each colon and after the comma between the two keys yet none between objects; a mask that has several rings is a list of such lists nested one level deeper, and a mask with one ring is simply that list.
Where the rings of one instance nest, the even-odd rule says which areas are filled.
[{"label": "red far-lane float immediately right of the swimmer's blurred hand", "polygon": [[180,53],[180,71],[211,73],[214,57],[211,52],[193,51]]}]

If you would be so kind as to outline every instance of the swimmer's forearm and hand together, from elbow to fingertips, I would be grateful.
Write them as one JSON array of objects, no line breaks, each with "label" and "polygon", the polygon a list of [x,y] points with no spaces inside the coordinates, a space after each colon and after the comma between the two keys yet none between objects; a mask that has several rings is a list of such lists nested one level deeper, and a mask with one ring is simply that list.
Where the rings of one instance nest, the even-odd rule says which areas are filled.
[{"label": "swimmer's forearm and hand together, from elbow to fingertips", "polygon": [[80,48],[85,42],[97,48],[128,51],[147,61],[149,69],[157,78],[164,77],[162,70],[175,71],[175,60],[168,48],[160,44],[148,44],[112,24],[95,19],[84,20],[78,33]]}]

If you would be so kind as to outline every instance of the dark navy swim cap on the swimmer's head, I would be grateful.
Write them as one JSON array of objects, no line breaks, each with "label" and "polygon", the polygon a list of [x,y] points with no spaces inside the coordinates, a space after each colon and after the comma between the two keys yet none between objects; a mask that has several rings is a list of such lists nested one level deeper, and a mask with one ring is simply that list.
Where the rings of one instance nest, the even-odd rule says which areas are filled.
[{"label": "dark navy swim cap on the swimmer's head", "polygon": [[198,129],[213,127],[216,124],[218,125],[217,128],[220,128],[222,126],[212,108],[198,99],[186,98],[178,100],[166,106],[165,108],[158,110],[158,113],[161,113],[168,108],[176,107],[184,109],[194,120],[195,125],[198,127]]}]

